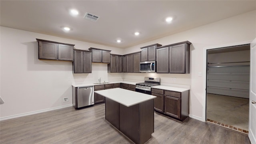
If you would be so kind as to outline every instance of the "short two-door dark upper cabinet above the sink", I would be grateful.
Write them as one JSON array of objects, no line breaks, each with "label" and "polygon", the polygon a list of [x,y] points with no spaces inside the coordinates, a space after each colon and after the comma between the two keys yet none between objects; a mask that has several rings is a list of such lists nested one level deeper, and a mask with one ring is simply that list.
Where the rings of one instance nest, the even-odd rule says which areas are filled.
[{"label": "short two-door dark upper cabinet above the sink", "polygon": [[98,48],[89,48],[92,51],[92,62],[110,63],[111,50],[102,50]]}]

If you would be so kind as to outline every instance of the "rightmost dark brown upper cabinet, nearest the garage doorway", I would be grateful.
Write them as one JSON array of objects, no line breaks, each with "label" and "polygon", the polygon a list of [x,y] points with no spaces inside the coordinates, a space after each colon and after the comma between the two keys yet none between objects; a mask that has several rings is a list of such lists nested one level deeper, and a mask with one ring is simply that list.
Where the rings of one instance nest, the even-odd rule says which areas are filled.
[{"label": "rightmost dark brown upper cabinet, nearest the garage doorway", "polygon": [[189,43],[170,46],[170,73],[189,74]]}]

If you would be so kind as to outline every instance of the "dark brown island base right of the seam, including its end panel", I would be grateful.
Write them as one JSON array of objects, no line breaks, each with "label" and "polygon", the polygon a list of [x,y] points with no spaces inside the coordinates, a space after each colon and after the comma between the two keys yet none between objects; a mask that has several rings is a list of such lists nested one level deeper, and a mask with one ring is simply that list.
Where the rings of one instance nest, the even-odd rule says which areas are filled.
[{"label": "dark brown island base right of the seam, including its end panel", "polygon": [[135,144],[144,144],[154,132],[153,100],[148,100],[134,106],[119,105],[120,132]]}]

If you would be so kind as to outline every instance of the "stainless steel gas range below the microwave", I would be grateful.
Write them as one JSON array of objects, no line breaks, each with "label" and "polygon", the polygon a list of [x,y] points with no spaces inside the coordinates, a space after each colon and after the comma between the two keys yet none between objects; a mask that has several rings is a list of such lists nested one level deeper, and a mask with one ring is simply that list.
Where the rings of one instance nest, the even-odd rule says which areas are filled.
[{"label": "stainless steel gas range below the microwave", "polygon": [[160,78],[145,77],[145,82],[136,84],[136,92],[151,94],[151,86],[160,85]]}]

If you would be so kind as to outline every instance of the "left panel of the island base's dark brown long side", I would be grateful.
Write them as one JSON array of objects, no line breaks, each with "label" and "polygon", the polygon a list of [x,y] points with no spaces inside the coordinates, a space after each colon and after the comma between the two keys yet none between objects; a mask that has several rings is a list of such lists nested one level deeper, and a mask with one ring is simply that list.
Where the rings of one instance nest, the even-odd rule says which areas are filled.
[{"label": "left panel of the island base's dark brown long side", "polygon": [[105,111],[106,120],[119,130],[119,103],[106,98]]}]

